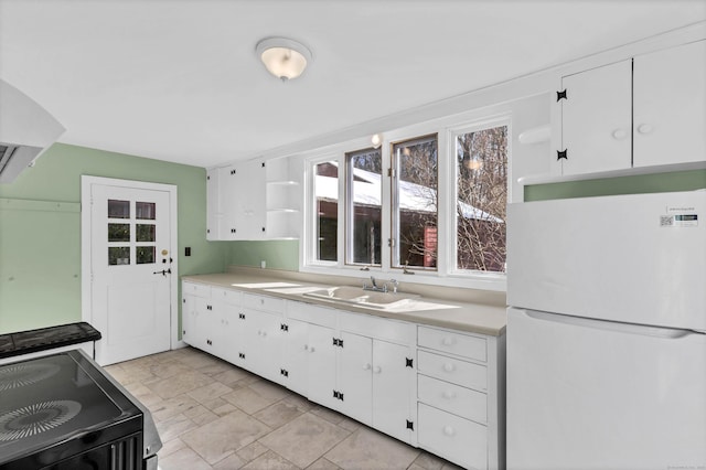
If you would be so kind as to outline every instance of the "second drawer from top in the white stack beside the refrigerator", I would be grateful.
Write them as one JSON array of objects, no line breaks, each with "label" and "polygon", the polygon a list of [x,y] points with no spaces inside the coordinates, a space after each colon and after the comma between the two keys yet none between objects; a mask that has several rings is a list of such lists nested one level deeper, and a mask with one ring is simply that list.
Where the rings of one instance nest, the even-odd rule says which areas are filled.
[{"label": "second drawer from top in the white stack beside the refrigerator", "polygon": [[427,351],[418,351],[417,360],[417,370],[425,375],[481,392],[488,391],[488,370],[484,365]]}]

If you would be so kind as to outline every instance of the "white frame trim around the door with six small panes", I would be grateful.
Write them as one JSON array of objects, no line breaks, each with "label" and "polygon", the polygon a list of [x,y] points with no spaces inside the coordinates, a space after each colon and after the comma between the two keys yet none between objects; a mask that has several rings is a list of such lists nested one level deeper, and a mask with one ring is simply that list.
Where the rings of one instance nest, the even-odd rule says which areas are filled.
[{"label": "white frame trim around the door with six small panes", "polygon": [[122,186],[139,190],[164,191],[169,193],[169,253],[173,257],[170,276],[170,349],[180,346],[179,341],[179,244],[176,242],[176,185],[149,183],[145,181],[118,180],[114,178],[81,175],[81,318],[90,323],[92,289],[90,289],[90,186],[93,184]]}]

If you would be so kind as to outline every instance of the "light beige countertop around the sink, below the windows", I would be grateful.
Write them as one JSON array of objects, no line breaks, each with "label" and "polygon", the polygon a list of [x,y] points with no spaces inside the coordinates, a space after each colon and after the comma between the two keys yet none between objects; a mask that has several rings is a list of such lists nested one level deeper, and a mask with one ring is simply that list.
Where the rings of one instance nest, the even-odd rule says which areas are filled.
[{"label": "light beige countertop around the sink, below the windows", "polygon": [[[376,317],[405,320],[420,324],[448,328],[472,333],[499,337],[504,334],[506,313],[504,307],[482,303],[467,303],[446,299],[417,298],[417,303],[424,306],[424,310],[416,308],[413,311],[404,307],[393,309],[373,309],[357,307],[352,303],[340,303],[324,299],[307,297],[303,292],[335,287],[320,282],[300,281],[297,279],[282,279],[267,274],[252,273],[223,273],[183,276],[182,280],[197,282],[225,289],[236,289],[245,292],[278,297],[299,302],[336,308],[356,313],[372,314]],[[363,290],[361,290],[363,292]]]}]

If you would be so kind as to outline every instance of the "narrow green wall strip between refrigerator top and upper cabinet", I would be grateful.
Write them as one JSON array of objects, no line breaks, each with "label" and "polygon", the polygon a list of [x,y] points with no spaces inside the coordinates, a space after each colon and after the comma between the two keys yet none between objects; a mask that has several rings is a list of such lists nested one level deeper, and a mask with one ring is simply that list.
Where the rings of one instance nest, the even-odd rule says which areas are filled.
[{"label": "narrow green wall strip between refrigerator top and upper cabinet", "polygon": [[706,188],[706,170],[571,181],[525,186],[525,201],[616,194],[663,193]]}]

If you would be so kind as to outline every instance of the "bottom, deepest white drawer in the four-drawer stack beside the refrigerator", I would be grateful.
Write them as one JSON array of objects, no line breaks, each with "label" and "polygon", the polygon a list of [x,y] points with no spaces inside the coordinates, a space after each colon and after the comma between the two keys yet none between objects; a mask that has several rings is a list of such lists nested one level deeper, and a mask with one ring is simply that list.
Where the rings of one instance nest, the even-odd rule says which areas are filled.
[{"label": "bottom, deepest white drawer in the four-drawer stack beside the refrigerator", "polygon": [[422,403],[418,408],[419,447],[464,468],[488,468],[488,428]]}]

